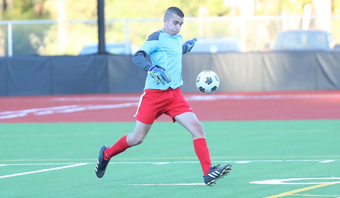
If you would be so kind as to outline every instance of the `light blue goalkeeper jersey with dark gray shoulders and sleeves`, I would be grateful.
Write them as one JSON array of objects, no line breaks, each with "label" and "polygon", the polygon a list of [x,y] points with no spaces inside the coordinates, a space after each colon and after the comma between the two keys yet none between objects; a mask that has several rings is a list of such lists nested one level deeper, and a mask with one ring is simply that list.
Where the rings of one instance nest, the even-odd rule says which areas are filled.
[{"label": "light blue goalkeeper jersey with dark gray shoulders and sleeves", "polygon": [[[151,75],[147,75],[144,89],[160,89],[166,90],[169,87],[176,89],[183,85],[182,80],[182,54],[188,50],[186,46],[182,46],[183,36],[179,33],[171,36],[160,29],[149,36],[140,49],[133,57],[133,61],[139,66],[147,70],[151,65],[162,67],[169,75],[171,82],[156,84],[155,79]],[[150,55],[152,64],[145,57]]]}]

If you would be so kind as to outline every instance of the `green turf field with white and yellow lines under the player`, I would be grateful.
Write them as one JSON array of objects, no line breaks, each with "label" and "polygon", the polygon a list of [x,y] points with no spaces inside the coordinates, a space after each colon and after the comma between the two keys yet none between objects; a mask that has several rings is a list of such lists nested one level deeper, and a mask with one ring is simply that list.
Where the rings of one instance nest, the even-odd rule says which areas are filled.
[{"label": "green turf field with white and yellow lines under the player", "polygon": [[[340,120],[202,123],[213,165],[233,165],[213,186],[178,123],[155,122],[101,179],[99,148],[134,123],[0,124],[0,197],[340,197]],[[295,184],[250,183],[273,179]]]}]

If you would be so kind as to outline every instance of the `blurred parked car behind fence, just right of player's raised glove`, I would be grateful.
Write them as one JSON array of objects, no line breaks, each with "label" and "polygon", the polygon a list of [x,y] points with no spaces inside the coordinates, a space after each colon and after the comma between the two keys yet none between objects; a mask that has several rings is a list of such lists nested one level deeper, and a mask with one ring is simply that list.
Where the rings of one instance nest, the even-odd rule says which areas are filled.
[{"label": "blurred parked car behind fence, just right of player's raised glove", "polygon": [[234,38],[198,38],[190,53],[241,52],[240,42]]}]

